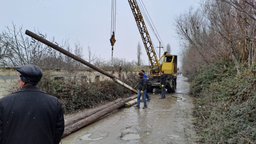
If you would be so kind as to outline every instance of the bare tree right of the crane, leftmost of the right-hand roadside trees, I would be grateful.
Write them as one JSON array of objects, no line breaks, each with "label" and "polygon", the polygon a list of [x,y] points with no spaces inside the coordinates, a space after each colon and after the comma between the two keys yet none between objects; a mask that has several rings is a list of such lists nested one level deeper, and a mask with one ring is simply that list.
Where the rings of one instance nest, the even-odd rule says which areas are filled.
[{"label": "bare tree right of the crane, leftmost of the right-hand roadside trees", "polygon": [[193,10],[190,8],[188,13],[180,15],[176,19],[176,32],[183,40],[183,43],[189,44],[190,48],[193,48],[197,52],[195,57],[200,58],[201,62],[208,64],[210,62],[210,51],[205,45],[204,41],[209,38],[206,28],[206,22],[204,16],[199,9]]}]

